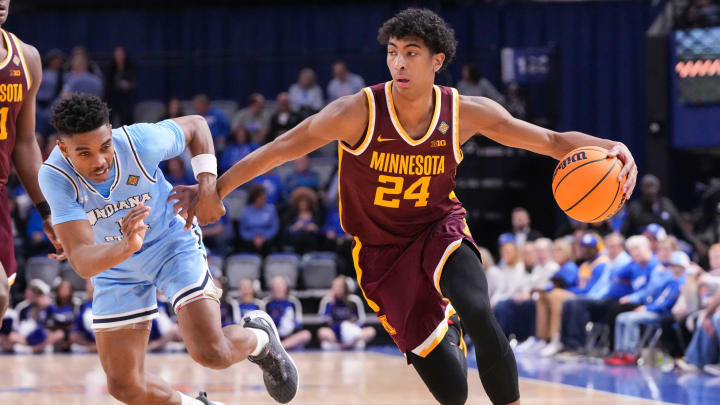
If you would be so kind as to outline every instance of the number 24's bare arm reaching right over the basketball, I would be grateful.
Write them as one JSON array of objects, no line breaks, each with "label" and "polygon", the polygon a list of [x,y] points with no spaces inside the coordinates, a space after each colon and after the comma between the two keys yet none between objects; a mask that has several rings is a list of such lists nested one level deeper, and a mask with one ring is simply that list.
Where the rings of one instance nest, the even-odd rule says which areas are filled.
[{"label": "number 24's bare arm reaching right over the basketball", "polygon": [[476,133],[514,148],[526,149],[560,159],[582,146],[608,149],[608,157],[623,162],[619,178],[627,177],[623,192],[629,198],[635,188],[637,166],[630,150],[621,142],[597,138],[581,132],[555,132],[535,124],[513,118],[500,104],[484,97],[460,97],[460,142]]}]

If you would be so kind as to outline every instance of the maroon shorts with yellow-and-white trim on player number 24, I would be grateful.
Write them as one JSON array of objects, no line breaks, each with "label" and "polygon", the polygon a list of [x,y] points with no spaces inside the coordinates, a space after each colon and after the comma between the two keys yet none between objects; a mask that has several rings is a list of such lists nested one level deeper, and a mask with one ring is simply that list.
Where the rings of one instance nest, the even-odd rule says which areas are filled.
[{"label": "maroon shorts with yellow-and-white trim on player number 24", "polygon": [[455,310],[440,292],[440,276],[464,239],[474,244],[460,215],[432,224],[407,245],[365,246],[355,238],[360,288],[403,353],[425,357],[445,337]]}]

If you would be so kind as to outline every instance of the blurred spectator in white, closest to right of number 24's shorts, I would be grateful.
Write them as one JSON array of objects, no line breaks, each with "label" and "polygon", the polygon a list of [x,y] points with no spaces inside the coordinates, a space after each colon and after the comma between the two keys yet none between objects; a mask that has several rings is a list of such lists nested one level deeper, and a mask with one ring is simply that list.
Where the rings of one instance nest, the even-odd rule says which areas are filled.
[{"label": "blurred spectator in white, closest to right of number 24's shorts", "polygon": [[515,237],[511,233],[504,233],[498,238],[498,244],[500,264],[487,272],[490,304],[493,307],[500,301],[512,298],[527,282],[525,266],[515,244]]}]

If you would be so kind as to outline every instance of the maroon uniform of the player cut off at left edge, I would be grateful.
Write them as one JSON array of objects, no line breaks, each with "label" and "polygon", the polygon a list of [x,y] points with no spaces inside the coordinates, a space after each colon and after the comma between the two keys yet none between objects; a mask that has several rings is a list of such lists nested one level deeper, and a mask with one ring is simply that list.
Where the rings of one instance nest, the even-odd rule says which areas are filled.
[{"label": "maroon uniform of the player cut off at left edge", "polygon": [[[23,101],[30,91],[30,68],[17,37],[0,29],[7,55],[0,61],[0,262],[8,275],[15,273],[15,254],[5,185],[15,148],[16,122]],[[11,278],[12,283],[12,278]]]}]

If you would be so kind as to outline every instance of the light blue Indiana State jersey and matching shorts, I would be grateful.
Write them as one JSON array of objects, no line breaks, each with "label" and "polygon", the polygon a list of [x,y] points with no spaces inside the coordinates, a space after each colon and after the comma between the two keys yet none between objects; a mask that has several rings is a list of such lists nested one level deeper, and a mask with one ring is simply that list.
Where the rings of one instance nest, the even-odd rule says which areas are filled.
[{"label": "light blue Indiana State jersey and matching shorts", "polygon": [[200,228],[185,231],[185,220],[167,202],[172,186],[160,162],[185,149],[185,135],[171,120],[113,129],[115,156],[108,180],[93,183],[75,171],[58,147],[40,168],[40,187],[52,210],[53,225],[85,220],[95,243],[122,239],[120,220],[143,203],[150,215],[142,248],[128,260],[92,278],[93,327],[121,326],[158,316],[156,288],[178,309],[214,285]]}]

